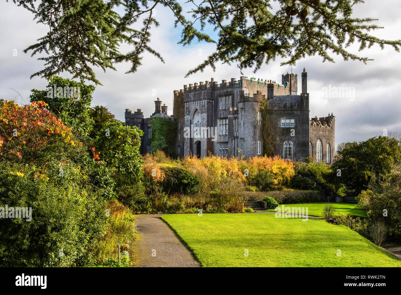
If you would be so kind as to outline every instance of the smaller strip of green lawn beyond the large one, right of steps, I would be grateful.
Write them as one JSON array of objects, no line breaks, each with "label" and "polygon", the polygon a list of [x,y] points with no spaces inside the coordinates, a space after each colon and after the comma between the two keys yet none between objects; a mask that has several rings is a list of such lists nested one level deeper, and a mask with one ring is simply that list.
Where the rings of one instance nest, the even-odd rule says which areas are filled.
[{"label": "smaller strip of green lawn beyond the large one, right of steps", "polygon": [[[286,207],[308,207],[308,215],[310,216],[322,216],[322,211],[324,204],[327,203],[303,203],[303,204],[286,204]],[[332,203],[334,205],[334,210],[340,212],[342,215],[352,215],[352,216],[361,216],[367,217],[365,210],[360,208],[357,204],[349,204],[349,203]],[[282,205],[279,205],[280,208]],[[266,211],[274,211],[274,209],[269,209]]]}]

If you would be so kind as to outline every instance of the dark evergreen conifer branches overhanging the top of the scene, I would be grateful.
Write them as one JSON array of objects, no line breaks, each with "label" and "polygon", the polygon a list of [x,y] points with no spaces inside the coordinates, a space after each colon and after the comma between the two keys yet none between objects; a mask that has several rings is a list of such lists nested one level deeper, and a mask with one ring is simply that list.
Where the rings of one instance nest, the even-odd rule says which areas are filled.
[{"label": "dark evergreen conifer branches overhanging the top of the scene", "polygon": [[[382,28],[372,22],[375,18],[356,18],[352,11],[362,0],[189,0],[191,16],[186,18],[178,0],[13,0],[30,10],[49,32],[30,45],[24,52],[32,56],[43,51],[39,58],[45,68],[33,76],[49,78],[62,71],[95,83],[100,83],[92,66],[115,69],[114,64],[129,61],[127,73],[134,73],[148,52],[164,59],[150,46],[150,30],[159,26],[154,17],[156,6],[164,6],[174,18],[175,26],[182,28],[183,46],[194,38],[212,42],[216,50],[203,63],[190,69],[186,76],[203,71],[217,62],[237,63],[242,70],[251,67],[257,71],[263,64],[282,58],[282,65],[295,65],[306,56],[320,55],[323,61],[334,62],[330,53],[344,60],[370,61],[348,51],[348,46],[359,44],[359,51],[378,44],[381,49],[390,45],[399,51],[401,40],[383,40],[368,32]],[[274,7],[273,7],[274,2]],[[277,6],[276,4],[279,4]],[[359,6],[358,6],[359,7]],[[124,10],[123,14],[117,9]],[[142,21],[140,30],[133,25]],[[218,32],[214,40],[207,32]],[[122,44],[131,46],[122,53]]]}]

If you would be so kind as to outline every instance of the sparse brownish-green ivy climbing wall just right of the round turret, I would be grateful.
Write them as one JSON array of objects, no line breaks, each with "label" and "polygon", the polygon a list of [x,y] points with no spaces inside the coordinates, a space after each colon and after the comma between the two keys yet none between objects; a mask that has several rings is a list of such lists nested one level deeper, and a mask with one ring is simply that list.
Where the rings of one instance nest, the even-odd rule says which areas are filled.
[{"label": "sparse brownish-green ivy climbing wall just right of the round turret", "polygon": [[262,119],[263,154],[273,157],[276,154],[279,138],[275,134],[275,129],[271,121],[271,111],[269,111],[266,99],[261,100],[260,113]]}]

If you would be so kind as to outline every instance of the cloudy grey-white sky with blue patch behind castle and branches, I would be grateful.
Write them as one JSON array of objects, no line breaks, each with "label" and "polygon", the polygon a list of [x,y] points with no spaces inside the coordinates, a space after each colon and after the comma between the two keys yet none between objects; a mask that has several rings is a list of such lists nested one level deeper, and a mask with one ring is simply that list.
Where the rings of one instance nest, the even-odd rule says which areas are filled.
[{"label": "cloudy grey-white sky with blue patch behind castle and branches", "polygon": [[[355,16],[379,18],[376,24],[384,29],[373,32],[379,38],[401,39],[401,14],[399,0],[366,1],[355,7]],[[42,69],[43,62],[38,56],[30,57],[23,49],[36,43],[47,32],[47,27],[36,24],[33,14],[16,6],[12,1],[0,2],[0,98],[29,101],[30,89],[45,89],[47,81],[30,75]],[[210,68],[185,79],[188,69],[201,63],[214,51],[212,44],[196,43],[182,47],[180,30],[174,28],[170,12],[158,8],[154,16],[160,27],[152,30],[152,47],[160,52],[166,63],[161,63],[151,55],[145,55],[137,73],[125,74],[130,64],[118,64],[117,71],[103,73],[96,71],[98,85],[93,93],[92,105],[104,105],[117,119],[124,121],[124,110],[142,109],[147,117],[154,111],[154,100],[159,97],[172,113],[173,90],[182,89],[184,84],[199,81],[215,81],[239,78],[241,73],[235,66],[217,65],[217,71]],[[122,51],[126,49],[122,46]],[[16,50],[16,51],[15,51]],[[16,56],[13,53],[17,53]],[[383,129],[401,131],[401,53],[391,47],[381,51],[379,46],[367,49],[357,55],[373,58],[367,65],[359,61],[322,63],[321,57],[302,59],[292,68],[300,73],[305,67],[308,72],[308,92],[310,93],[310,117],[326,116],[329,112],[336,116],[336,143],[360,141],[382,135]],[[257,73],[247,69],[244,75],[281,81],[281,75],[291,71],[291,67],[280,67],[280,60],[265,65]],[[69,78],[68,73],[61,74]],[[300,79],[299,79],[300,80]],[[301,89],[298,81],[298,89]],[[347,87],[347,88],[344,88]],[[16,91],[14,91],[15,89]],[[348,95],[342,97],[347,89]],[[336,95],[336,90],[340,90]],[[344,93],[345,94],[345,93]],[[155,95],[155,96],[153,96]]]}]

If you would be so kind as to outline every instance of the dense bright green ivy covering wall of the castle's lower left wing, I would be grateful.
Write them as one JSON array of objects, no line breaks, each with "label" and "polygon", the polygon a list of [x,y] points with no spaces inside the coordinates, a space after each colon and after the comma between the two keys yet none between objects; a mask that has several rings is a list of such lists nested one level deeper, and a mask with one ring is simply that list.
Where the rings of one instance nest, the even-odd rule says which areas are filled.
[{"label": "dense bright green ivy covering wall of the castle's lower left wing", "polygon": [[149,142],[152,144],[152,152],[163,151],[168,156],[175,156],[172,149],[175,140],[176,121],[170,121],[166,118],[156,117],[150,120],[152,124],[152,138]]}]

